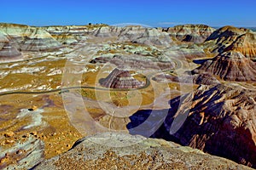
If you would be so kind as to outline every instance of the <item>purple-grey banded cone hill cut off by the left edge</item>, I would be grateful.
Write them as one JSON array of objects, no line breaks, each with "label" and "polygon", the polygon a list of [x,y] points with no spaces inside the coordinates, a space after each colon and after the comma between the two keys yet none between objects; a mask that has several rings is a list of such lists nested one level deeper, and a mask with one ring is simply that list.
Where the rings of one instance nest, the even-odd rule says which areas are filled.
[{"label": "purple-grey banded cone hill cut off by the left edge", "polygon": [[22,55],[10,42],[9,38],[0,32],[0,61],[22,59]]}]

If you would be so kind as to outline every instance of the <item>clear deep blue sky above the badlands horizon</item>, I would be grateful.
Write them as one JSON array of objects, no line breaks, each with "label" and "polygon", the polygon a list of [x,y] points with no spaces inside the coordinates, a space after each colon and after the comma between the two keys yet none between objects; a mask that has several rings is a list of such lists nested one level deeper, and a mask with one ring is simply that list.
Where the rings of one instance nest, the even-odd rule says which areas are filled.
[{"label": "clear deep blue sky above the badlands horizon", "polygon": [[138,23],[256,26],[255,0],[3,0],[0,22],[31,26]]}]

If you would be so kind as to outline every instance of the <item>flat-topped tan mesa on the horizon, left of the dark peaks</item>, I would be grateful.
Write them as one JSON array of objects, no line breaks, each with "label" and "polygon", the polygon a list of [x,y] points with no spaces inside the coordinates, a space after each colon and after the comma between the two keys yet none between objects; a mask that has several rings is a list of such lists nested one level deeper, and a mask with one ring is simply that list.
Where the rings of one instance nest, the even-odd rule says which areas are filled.
[{"label": "flat-topped tan mesa on the horizon, left of the dark peaks", "polygon": [[164,29],[164,31],[168,32],[171,37],[175,37],[182,42],[201,43],[204,42],[215,29],[206,25],[180,25],[169,27]]}]

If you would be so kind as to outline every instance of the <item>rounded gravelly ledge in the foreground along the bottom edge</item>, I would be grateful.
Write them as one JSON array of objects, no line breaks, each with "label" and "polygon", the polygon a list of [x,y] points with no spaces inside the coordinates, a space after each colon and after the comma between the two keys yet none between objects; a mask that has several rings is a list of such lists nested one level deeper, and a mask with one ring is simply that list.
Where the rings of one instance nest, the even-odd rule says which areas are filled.
[{"label": "rounded gravelly ledge in the foreground along the bottom edge", "polygon": [[201,150],[128,133],[100,133],[77,141],[34,169],[251,169]]}]

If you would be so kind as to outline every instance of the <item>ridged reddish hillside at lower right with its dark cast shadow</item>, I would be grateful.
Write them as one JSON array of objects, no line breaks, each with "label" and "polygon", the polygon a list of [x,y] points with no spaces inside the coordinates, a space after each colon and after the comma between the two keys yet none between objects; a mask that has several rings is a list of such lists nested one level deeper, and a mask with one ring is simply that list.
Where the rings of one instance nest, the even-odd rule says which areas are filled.
[{"label": "ridged reddish hillside at lower right with its dark cast shadow", "polygon": [[[239,87],[201,86],[191,94],[170,100],[165,121],[152,137],[256,167],[255,96],[255,91]],[[154,122],[148,122],[148,116],[161,116],[162,112],[138,111],[127,125],[130,133],[148,135],[138,122],[152,127]]]}]

